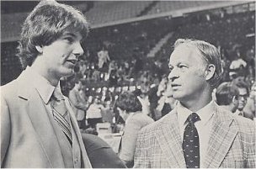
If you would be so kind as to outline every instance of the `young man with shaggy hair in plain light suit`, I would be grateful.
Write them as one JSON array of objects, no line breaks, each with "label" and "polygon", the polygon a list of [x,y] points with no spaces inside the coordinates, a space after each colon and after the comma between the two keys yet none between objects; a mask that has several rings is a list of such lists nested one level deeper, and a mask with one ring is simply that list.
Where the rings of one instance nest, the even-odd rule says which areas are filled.
[{"label": "young man with shaggy hair in plain light suit", "polygon": [[60,78],[71,76],[88,22],[76,9],[42,1],[25,19],[24,71],[1,87],[1,167],[91,167]]}]

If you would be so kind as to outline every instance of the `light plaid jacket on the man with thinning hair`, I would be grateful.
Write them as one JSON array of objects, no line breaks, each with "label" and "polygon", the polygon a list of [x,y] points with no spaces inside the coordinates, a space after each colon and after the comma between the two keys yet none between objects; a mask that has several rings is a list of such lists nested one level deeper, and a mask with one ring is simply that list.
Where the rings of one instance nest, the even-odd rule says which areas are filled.
[{"label": "light plaid jacket on the man with thinning hair", "polygon": [[[210,140],[201,167],[255,168],[255,124],[216,104],[215,107]],[[176,108],[141,129],[135,167],[186,168]]]}]

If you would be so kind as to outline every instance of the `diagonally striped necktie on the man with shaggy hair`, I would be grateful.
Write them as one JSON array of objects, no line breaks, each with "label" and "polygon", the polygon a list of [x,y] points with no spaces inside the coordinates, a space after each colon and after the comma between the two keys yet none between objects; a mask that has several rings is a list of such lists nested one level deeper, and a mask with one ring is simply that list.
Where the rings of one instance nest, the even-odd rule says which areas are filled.
[{"label": "diagonally striped necktie on the man with shaggy hair", "polygon": [[65,104],[65,99],[61,91],[59,90],[60,89],[56,87],[51,96],[52,114],[57,124],[59,124],[59,126],[61,127],[61,130],[63,131],[63,133],[67,136],[67,140],[72,145],[72,133],[71,133],[71,127],[68,120],[67,107]]}]

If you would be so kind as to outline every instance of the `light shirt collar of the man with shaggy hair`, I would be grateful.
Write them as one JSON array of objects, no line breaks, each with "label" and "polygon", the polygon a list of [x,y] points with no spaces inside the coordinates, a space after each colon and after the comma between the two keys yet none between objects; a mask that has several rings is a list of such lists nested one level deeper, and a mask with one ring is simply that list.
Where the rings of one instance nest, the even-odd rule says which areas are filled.
[{"label": "light shirt collar of the man with shaggy hair", "polygon": [[[27,66],[26,71],[29,71],[29,75],[31,76],[31,79],[33,79],[32,84],[39,92],[40,97],[43,99],[45,104],[48,103],[55,87],[52,86],[51,83],[47,79],[45,79],[45,77],[42,77],[37,71],[33,70],[31,67]],[[61,88],[60,82],[56,87]]]}]

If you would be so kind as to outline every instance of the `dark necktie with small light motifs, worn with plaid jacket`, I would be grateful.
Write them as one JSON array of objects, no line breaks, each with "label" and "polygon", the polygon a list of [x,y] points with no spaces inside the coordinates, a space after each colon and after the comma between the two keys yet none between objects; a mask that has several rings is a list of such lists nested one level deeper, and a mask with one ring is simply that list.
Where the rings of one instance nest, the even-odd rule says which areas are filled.
[{"label": "dark necktie with small light motifs, worn with plaid jacket", "polygon": [[185,124],[183,151],[187,168],[199,168],[200,167],[200,145],[197,129],[195,128],[195,122],[200,120],[200,117],[193,113],[190,114]]}]

